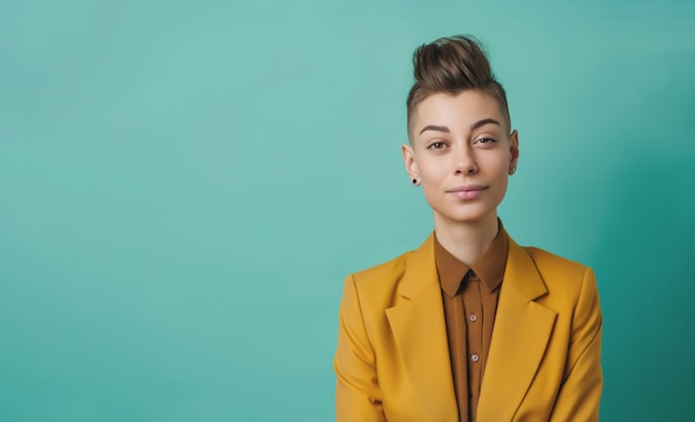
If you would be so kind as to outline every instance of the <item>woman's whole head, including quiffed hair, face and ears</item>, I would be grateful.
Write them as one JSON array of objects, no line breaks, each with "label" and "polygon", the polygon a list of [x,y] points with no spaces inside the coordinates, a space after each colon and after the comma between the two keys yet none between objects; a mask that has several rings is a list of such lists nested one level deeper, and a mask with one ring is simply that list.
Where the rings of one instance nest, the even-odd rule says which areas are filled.
[{"label": "woman's whole head, including quiffed hair, face and ears", "polygon": [[422,185],[435,225],[494,224],[518,158],[504,89],[480,46],[465,37],[420,47],[414,66],[405,170]]}]

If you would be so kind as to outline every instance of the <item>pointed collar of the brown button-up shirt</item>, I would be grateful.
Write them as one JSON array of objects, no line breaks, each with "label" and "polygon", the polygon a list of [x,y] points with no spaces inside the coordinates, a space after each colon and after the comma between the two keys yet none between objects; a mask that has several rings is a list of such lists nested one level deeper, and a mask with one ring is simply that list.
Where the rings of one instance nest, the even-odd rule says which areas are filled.
[{"label": "pointed collar of the brown button-up shirt", "polygon": [[487,250],[471,267],[459,261],[442,247],[436,235],[434,237],[434,260],[440,275],[440,284],[446,294],[455,297],[461,291],[461,283],[471,270],[485,283],[488,292],[493,292],[502,284],[508,244],[502,221],[497,220],[497,235],[495,235]]}]

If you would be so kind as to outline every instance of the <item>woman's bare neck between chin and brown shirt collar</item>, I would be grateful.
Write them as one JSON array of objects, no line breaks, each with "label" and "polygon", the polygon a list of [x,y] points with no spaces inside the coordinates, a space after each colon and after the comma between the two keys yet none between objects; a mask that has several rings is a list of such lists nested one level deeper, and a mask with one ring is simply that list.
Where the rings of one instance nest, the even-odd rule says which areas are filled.
[{"label": "woman's bare neck between chin and brown shirt collar", "polygon": [[456,259],[471,267],[490,248],[497,235],[497,213],[492,212],[482,220],[459,222],[434,214],[436,240]]}]

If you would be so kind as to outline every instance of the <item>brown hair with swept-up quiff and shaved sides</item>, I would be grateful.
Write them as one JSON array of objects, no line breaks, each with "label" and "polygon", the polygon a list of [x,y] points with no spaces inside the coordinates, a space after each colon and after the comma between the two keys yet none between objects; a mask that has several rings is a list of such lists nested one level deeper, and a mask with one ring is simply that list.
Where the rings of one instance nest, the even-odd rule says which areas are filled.
[{"label": "brown hair with swept-up quiff and shaved sides", "polygon": [[512,130],[506,93],[495,80],[490,61],[475,38],[454,36],[420,46],[413,53],[415,83],[407,94],[407,134],[415,108],[427,97],[481,90],[497,100],[507,131]]}]

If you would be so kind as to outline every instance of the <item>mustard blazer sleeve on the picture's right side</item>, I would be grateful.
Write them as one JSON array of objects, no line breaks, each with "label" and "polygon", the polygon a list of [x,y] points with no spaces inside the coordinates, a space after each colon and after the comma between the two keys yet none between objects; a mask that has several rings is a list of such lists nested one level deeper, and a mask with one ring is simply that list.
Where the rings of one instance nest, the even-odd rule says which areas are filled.
[{"label": "mustard blazer sleeve on the picture's right side", "polygon": [[584,272],[572,321],[572,339],[563,383],[551,421],[597,421],[603,374],[601,370],[602,315],[596,278]]}]

